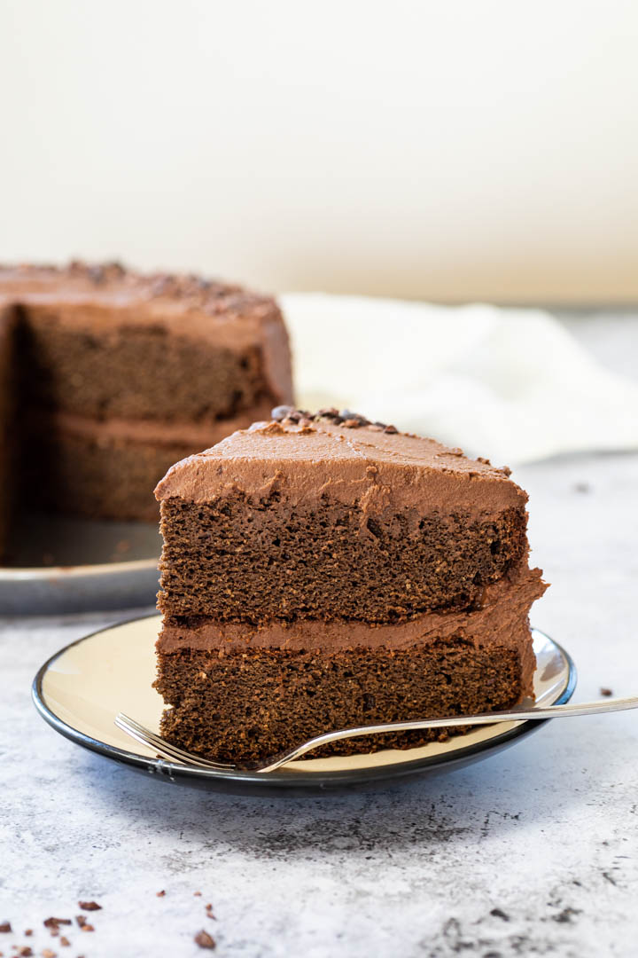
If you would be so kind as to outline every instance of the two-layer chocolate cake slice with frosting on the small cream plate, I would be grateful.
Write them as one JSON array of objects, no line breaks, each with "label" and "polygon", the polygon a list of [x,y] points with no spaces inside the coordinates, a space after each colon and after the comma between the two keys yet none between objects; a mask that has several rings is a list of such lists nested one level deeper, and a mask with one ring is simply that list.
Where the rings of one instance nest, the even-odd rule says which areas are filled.
[{"label": "two-layer chocolate cake slice with frosting on the small cream plate", "polygon": [[260,759],[331,729],[533,694],[528,613],[545,586],[508,469],[361,416],[283,407],[178,463],[156,495],[167,739]]}]

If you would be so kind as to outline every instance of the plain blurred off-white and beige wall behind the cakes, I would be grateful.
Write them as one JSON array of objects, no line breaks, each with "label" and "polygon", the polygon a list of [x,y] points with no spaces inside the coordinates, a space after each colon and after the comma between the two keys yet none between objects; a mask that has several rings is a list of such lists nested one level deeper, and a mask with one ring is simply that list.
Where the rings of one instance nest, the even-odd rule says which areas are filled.
[{"label": "plain blurred off-white and beige wall behind the cakes", "polygon": [[0,259],[638,301],[638,5],[0,0]]}]

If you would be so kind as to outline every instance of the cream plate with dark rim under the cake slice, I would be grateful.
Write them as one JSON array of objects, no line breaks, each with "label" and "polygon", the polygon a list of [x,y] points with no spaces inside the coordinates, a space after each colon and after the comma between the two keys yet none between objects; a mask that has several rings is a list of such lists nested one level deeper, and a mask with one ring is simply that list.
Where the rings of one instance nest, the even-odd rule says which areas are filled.
[{"label": "cream plate with dark rim under the cake slice", "polygon": [[[235,794],[285,795],[338,792],[404,781],[487,758],[535,731],[544,722],[512,721],[477,726],[449,741],[368,755],[301,759],[275,772],[221,772],[187,768],[158,759],[114,725],[124,712],[159,731],[162,697],[151,687],[155,677],[155,640],[159,615],[104,628],[55,653],[33,680],[33,700],[43,719],[71,741],[174,785]],[[576,668],[568,653],[533,629],[537,658],[537,702],[566,702],[576,687]],[[545,719],[546,720],[546,719]]]}]

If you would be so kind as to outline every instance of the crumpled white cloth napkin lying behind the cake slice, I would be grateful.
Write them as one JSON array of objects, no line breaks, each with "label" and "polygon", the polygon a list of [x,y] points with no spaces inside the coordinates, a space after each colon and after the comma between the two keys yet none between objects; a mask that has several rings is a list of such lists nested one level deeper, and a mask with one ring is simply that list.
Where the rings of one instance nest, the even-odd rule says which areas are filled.
[{"label": "crumpled white cloth napkin lying behind the cake slice", "polygon": [[301,408],[361,412],[497,465],[638,448],[638,383],[546,312],[324,293],[280,302]]}]

